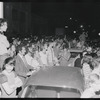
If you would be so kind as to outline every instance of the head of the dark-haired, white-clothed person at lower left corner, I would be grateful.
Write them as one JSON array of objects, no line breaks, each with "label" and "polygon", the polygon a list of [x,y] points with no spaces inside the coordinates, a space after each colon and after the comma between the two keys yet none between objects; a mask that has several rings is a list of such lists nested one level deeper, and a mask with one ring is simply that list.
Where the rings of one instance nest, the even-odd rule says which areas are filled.
[{"label": "head of the dark-haired, white-clothed person at lower left corner", "polygon": [[8,73],[14,70],[15,61],[12,57],[6,58],[2,67],[2,70],[6,70]]}]

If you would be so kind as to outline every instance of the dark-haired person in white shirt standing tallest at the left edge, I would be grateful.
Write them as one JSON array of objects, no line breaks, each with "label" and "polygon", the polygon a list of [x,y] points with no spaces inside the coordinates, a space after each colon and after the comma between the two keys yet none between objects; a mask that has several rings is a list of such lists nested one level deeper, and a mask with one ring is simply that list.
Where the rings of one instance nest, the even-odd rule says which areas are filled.
[{"label": "dark-haired person in white shirt standing tallest at the left edge", "polygon": [[0,18],[0,71],[3,66],[4,60],[9,56],[8,48],[10,46],[4,32],[7,30],[7,20]]}]

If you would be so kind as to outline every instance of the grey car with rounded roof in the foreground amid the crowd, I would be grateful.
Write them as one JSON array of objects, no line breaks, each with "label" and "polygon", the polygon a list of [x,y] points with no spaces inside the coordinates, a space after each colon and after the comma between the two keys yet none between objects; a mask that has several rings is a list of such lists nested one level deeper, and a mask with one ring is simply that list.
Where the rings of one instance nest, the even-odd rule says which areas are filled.
[{"label": "grey car with rounded roof in the foreground amid the crowd", "polygon": [[33,73],[24,87],[24,98],[80,98],[84,78],[77,67],[47,67]]}]

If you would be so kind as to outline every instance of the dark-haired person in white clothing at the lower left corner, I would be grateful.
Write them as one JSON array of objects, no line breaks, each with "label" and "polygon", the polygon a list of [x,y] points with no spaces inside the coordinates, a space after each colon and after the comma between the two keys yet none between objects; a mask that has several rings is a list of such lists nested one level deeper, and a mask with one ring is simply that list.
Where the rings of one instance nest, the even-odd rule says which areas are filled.
[{"label": "dark-haired person in white clothing at the lower left corner", "polygon": [[15,98],[16,89],[23,85],[21,79],[14,71],[14,60],[12,57],[6,58],[0,74],[1,97]]}]

